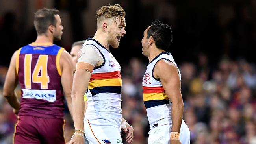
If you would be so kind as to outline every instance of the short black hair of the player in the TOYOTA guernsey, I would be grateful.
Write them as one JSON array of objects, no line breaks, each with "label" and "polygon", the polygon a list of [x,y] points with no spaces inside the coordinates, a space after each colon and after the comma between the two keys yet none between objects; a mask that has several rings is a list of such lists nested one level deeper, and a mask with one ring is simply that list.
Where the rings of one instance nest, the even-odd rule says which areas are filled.
[{"label": "short black hair of the player in the TOYOTA guernsey", "polygon": [[161,50],[167,50],[173,41],[173,32],[171,26],[161,23],[158,20],[152,22],[147,31],[147,39],[152,36],[156,47]]}]

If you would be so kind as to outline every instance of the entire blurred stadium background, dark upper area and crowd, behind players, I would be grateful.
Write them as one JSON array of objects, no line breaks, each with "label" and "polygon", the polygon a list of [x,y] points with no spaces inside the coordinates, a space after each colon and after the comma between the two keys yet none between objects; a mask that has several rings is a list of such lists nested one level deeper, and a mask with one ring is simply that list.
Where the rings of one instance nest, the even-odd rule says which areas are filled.
[{"label": "entire blurred stadium background, dark upper area and crowd, behind players", "polygon": [[[173,28],[169,52],[182,74],[191,144],[256,144],[256,0],[1,0],[0,144],[12,142],[17,120],[2,96],[4,79],[13,52],[35,41],[34,12],[60,10],[63,39],[55,44],[70,51],[73,42],[93,37],[96,9],[116,3],[126,11],[127,34],[111,53],[122,66],[122,114],[134,127],[133,144],[147,144],[141,39],[153,20]],[[67,110],[65,119],[69,140]]]}]

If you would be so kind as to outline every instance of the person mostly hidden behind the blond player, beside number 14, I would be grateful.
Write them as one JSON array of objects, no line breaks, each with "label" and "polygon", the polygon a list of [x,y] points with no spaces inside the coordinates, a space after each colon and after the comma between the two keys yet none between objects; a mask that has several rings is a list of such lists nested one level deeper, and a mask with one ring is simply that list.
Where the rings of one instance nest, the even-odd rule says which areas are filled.
[{"label": "person mostly hidden behind the blond player, beside number 14", "polygon": [[[72,57],[72,61],[73,61],[73,67],[74,67],[74,72],[76,71],[76,61],[77,61],[77,54],[80,50],[80,48],[83,46],[85,40],[83,41],[77,41],[77,42],[74,42],[72,44],[72,48],[71,48],[71,51],[70,51],[70,55]],[[87,100],[88,98],[86,96],[90,96],[91,95],[91,92],[90,90],[87,89],[85,95],[83,96],[83,99],[84,99],[84,116],[85,116],[85,112],[86,112],[86,108],[87,108]],[[85,137],[85,144],[88,144],[88,140],[87,138]]]}]

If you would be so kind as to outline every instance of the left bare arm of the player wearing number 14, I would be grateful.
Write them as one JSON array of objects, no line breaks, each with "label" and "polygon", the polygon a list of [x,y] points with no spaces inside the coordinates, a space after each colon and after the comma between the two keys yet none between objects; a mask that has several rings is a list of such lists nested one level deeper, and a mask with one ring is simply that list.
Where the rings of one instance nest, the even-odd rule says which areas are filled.
[{"label": "left bare arm of the player wearing number 14", "polygon": [[6,80],[4,82],[4,97],[7,102],[13,107],[16,111],[20,108],[20,102],[15,93],[15,88],[18,85],[18,76],[16,74],[16,55],[17,51],[11,57],[11,63],[6,75]]}]

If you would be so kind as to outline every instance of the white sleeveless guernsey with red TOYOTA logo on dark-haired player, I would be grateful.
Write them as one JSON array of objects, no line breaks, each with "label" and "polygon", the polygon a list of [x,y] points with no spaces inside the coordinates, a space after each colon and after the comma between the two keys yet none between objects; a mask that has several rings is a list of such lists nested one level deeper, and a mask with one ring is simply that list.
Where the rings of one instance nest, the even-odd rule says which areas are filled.
[{"label": "white sleeveless guernsey with red TOYOTA logo on dark-haired player", "polygon": [[[164,125],[171,124],[171,102],[163,89],[159,79],[154,78],[153,72],[156,63],[165,59],[174,62],[171,53],[162,52],[156,56],[147,66],[147,70],[142,79],[143,101],[146,107],[148,121],[150,126],[154,124]],[[176,65],[177,66],[177,65]],[[180,70],[178,70],[180,76]]]}]

